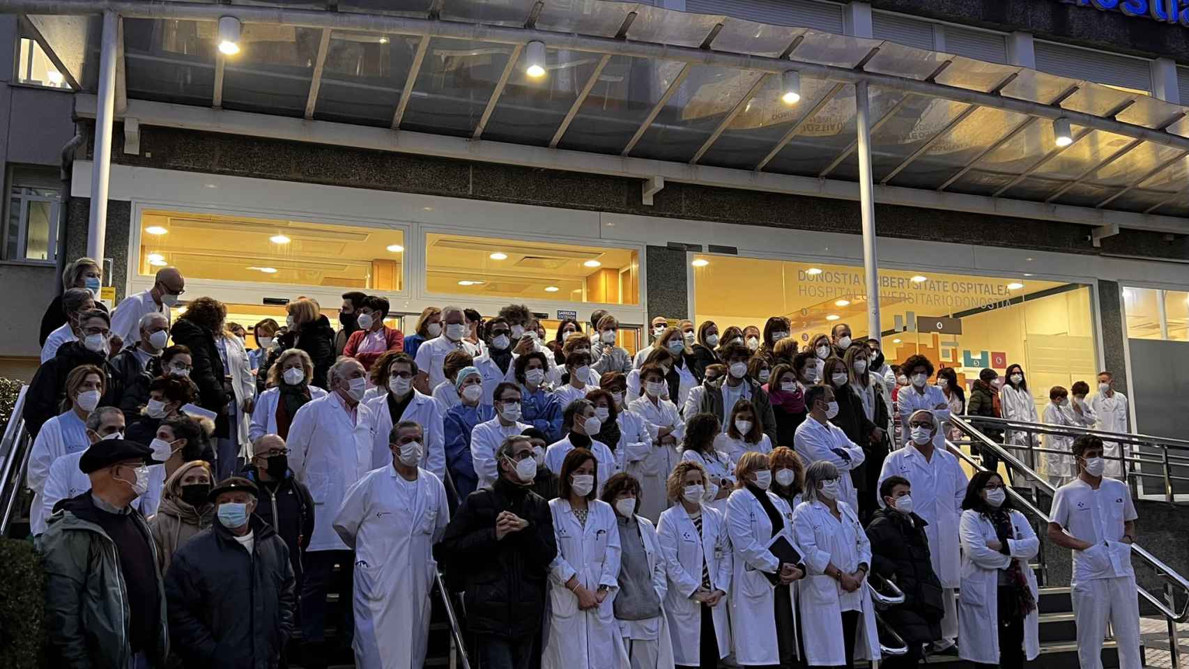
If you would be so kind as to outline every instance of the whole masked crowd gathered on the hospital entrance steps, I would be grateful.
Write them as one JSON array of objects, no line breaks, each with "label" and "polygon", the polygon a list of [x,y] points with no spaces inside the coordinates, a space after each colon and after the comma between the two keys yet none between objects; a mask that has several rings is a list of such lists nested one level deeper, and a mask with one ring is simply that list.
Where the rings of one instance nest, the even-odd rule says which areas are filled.
[{"label": "whole masked crowd gathered on the hospital entrance steps", "polygon": [[[100,277],[67,267],[24,409],[57,665],[325,667],[329,626],[360,668],[420,668],[439,570],[483,669],[1039,651],[1040,537],[995,453],[968,479],[946,443],[951,415],[1036,422],[1019,365],[967,402],[952,368],[891,365],[844,323],[798,351],[781,316],[658,317],[631,355],[605,310],[549,336],[523,305],[446,305],[405,336],[361,292],[339,332],[303,297],[249,351],[216,299],[174,316],[176,269],[111,314]],[[1046,422],[1124,431],[1126,398],[1099,384],[1052,389]],[[1109,623],[1138,669],[1130,492],[1100,438],[1048,446],[1081,665],[1101,667]],[[881,657],[873,594],[892,585],[907,652]]]}]

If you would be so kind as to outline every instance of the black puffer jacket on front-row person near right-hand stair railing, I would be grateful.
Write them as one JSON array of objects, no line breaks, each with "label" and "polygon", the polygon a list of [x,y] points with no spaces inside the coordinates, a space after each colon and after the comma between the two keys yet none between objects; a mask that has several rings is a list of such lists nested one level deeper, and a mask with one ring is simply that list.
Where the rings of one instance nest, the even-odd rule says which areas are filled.
[{"label": "black puffer jacket on front-row person near right-hand stair railing", "polygon": [[904,604],[882,613],[906,642],[925,644],[942,638],[942,583],[929,558],[925,522],[880,509],[867,525],[872,570],[904,592]]}]

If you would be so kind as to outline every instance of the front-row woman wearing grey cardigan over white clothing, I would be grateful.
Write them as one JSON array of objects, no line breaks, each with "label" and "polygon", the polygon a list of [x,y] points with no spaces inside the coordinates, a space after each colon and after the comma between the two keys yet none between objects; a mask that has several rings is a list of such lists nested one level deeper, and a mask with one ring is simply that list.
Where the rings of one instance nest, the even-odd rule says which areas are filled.
[{"label": "front-row woman wearing grey cardigan over white clothing", "polygon": [[662,605],[668,570],[656,529],[636,513],[640,481],[619,472],[608,479],[602,499],[615,509],[619,530],[619,589],[612,608],[631,669],[673,669],[673,643]]}]

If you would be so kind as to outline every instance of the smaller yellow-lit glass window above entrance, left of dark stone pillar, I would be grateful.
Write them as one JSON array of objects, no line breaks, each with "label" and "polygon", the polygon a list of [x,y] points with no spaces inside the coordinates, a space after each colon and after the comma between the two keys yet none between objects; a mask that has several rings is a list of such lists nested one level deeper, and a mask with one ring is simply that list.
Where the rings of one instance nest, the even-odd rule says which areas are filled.
[{"label": "smaller yellow-lit glass window above entrance, left of dark stone pillar", "polygon": [[640,254],[627,248],[426,235],[429,292],[539,301],[640,303]]}]

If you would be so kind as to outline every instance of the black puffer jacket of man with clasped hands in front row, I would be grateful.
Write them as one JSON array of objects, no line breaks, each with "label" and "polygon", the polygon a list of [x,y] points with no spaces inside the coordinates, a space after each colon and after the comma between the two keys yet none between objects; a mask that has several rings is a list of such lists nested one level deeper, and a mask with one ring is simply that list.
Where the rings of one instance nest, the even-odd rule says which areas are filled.
[{"label": "black puffer jacket of man with clasped hands in front row", "polygon": [[[496,539],[496,516],[511,511],[528,528]],[[558,555],[549,504],[505,478],[472,492],[435,548],[452,587],[465,591],[466,629],[521,637],[541,630],[549,563]]]}]

